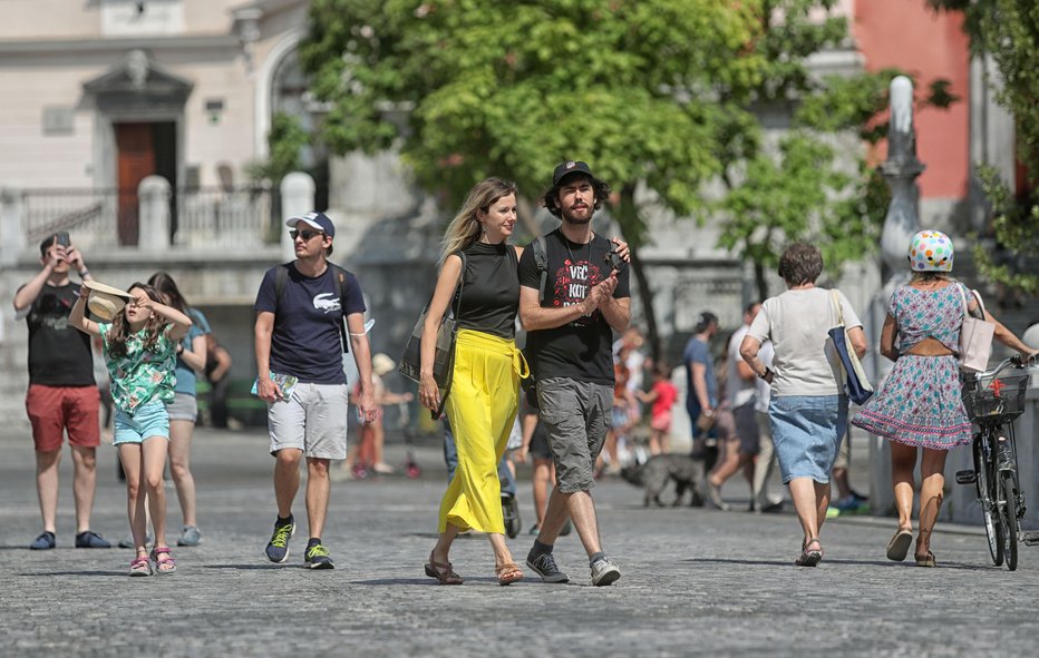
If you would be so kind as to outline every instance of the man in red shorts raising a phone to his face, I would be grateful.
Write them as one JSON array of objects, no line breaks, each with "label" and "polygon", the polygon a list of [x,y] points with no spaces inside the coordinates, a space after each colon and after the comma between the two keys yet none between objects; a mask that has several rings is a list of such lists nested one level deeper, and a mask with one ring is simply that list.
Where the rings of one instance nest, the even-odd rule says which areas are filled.
[{"label": "man in red shorts raising a phone to his face", "polygon": [[36,489],[43,532],[29,544],[33,550],[55,548],[58,513],[58,464],[66,431],[72,449],[72,493],[76,499],[76,548],[109,548],[90,530],[90,511],[97,481],[95,452],[100,443],[90,336],[68,323],[79,284],[69,281],[76,269],[84,281],[90,272],[67,233],[40,244],[43,268],[14,294],[14,312],[29,325],[29,393],[26,411],[36,443]]}]

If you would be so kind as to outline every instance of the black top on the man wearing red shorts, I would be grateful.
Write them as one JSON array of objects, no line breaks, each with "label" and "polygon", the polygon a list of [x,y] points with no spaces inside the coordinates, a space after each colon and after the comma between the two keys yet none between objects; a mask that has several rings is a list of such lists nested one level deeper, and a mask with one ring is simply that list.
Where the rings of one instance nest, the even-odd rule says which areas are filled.
[{"label": "black top on the man wearing red shorts", "polygon": [[79,286],[43,284],[29,305],[29,383],[46,386],[94,386],[90,336],[68,322]]}]

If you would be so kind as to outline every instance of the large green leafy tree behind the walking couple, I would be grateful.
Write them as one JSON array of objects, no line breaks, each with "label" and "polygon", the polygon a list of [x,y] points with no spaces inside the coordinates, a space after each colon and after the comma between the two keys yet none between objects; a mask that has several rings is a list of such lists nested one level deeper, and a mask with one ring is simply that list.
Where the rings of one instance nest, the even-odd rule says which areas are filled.
[{"label": "large green leafy tree behind the walking couple", "polygon": [[[639,258],[651,239],[648,205],[701,222],[721,210],[722,244],[759,272],[774,259],[776,240],[820,242],[836,265],[861,256],[863,236],[875,230],[857,196],[870,176],[854,175],[854,160],[853,175],[842,174],[824,137],[883,107],[883,85],[872,95],[851,86],[831,95],[841,111],[827,120],[845,121],[824,126],[806,115],[803,129],[779,146],[781,160],[769,161],[755,114],[775,106],[793,112],[825,90],[805,59],[847,38],[846,22],[828,13],[835,4],[314,0],[300,56],[315,95],[332,101],[322,122],[332,151],[397,147],[418,181],[451,205],[474,181],[504,174],[520,184],[521,208],[528,208],[559,161],[591,163],[614,189],[612,213],[632,247],[658,355],[652,292]],[[809,16],[819,9],[822,21]],[[718,179],[732,199],[703,193],[705,183]],[[765,212],[775,207],[776,189],[803,209],[807,199],[820,205],[797,223],[779,223]],[[769,240],[754,237],[758,229],[745,212],[764,223]]]}]

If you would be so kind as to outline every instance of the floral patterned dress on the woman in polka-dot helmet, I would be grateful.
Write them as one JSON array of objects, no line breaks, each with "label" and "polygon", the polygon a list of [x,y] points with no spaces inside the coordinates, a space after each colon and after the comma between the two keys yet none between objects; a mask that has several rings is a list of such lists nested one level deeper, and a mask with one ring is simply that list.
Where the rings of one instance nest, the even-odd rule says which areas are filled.
[{"label": "floral patterned dress on the woman in polka-dot helmet", "polygon": [[906,354],[928,337],[959,352],[961,292],[970,294],[959,283],[932,291],[904,285],[894,292],[887,312],[897,325],[901,356],[880,391],[852,419],[853,425],[889,441],[934,450],[970,443],[957,355]]}]

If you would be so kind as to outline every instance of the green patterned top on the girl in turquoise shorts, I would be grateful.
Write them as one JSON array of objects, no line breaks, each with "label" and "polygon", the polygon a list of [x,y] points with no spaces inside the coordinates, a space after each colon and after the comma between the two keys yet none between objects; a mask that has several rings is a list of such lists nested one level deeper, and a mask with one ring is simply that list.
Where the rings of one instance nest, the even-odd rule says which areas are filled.
[{"label": "green patterned top on the girl in turquoise shorts", "polygon": [[[155,351],[145,348],[145,330],[126,338],[126,356],[115,359],[109,353],[110,324],[99,323],[104,340],[105,363],[111,379],[111,400],[129,415],[152,400],[173,402],[176,385],[176,343],[164,331],[155,342]],[[168,328],[167,328],[168,331]]]}]

